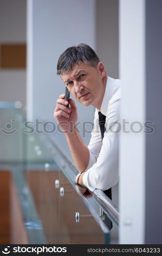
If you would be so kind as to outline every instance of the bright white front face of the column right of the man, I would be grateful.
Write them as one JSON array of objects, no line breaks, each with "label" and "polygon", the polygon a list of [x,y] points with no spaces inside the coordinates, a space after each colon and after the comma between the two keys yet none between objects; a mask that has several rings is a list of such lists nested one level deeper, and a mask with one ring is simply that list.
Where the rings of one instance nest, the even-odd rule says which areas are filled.
[{"label": "bright white front face of the column right of the man", "polygon": [[[145,1],[119,2],[119,71],[122,79],[119,210],[120,244],[143,244],[145,228]],[[124,126],[123,126],[124,129]]]}]

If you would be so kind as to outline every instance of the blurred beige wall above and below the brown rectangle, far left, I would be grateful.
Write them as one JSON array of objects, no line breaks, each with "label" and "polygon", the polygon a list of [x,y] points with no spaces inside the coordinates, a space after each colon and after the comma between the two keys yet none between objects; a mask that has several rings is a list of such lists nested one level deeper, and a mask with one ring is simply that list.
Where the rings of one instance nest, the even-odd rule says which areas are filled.
[{"label": "blurred beige wall above and below the brown rectangle, far left", "polygon": [[[0,45],[26,43],[26,0],[0,1]],[[1,47],[2,50],[2,47]],[[2,52],[1,52],[2,56]],[[2,60],[2,58],[1,58]],[[15,60],[16,61],[16,60]],[[26,104],[25,68],[2,68],[0,63],[0,100]]]}]

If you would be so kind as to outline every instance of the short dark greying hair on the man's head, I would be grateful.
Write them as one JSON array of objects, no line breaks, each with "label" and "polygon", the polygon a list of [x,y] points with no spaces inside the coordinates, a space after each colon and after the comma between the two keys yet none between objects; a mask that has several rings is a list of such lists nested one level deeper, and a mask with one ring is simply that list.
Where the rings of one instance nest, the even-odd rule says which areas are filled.
[{"label": "short dark greying hair on the man's head", "polygon": [[59,57],[57,64],[57,75],[62,75],[63,72],[68,72],[72,66],[82,61],[96,68],[100,61],[95,51],[86,44],[79,44],[67,48]]}]

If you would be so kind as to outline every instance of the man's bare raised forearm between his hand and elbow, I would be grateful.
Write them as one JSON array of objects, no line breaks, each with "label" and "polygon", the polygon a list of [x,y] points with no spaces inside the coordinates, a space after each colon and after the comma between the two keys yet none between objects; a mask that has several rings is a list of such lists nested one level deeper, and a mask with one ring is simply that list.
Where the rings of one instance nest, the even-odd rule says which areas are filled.
[{"label": "man's bare raised forearm between his hand and elbow", "polygon": [[83,142],[82,138],[77,132],[77,129],[73,130],[73,133],[65,134],[73,161],[80,172],[83,172],[89,163],[90,153],[88,147]]}]

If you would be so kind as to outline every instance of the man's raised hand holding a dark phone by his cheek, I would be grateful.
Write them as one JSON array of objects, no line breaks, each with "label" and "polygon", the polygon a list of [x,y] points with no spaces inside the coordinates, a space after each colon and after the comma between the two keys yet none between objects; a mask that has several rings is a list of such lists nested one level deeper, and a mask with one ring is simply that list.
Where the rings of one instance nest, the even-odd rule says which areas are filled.
[{"label": "man's raised hand holding a dark phone by his cheek", "polygon": [[65,99],[65,94],[61,94],[57,100],[53,116],[63,132],[70,132],[77,122],[77,108],[75,101],[71,98],[69,98],[68,101],[68,99]]}]

